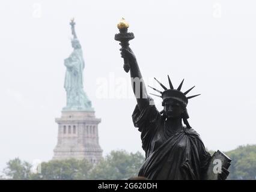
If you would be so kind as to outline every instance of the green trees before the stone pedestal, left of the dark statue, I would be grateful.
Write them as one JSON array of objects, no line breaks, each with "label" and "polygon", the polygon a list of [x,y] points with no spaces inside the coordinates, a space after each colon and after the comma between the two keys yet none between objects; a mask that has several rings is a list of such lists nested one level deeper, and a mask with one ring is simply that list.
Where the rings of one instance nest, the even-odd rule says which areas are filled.
[{"label": "green trees before the stone pedestal, left of the dark statue", "polygon": [[138,174],[143,162],[140,152],[112,151],[95,166],[87,160],[51,160],[41,163],[38,174],[32,173],[32,164],[15,158],[8,161],[3,172],[9,179],[128,179]]}]

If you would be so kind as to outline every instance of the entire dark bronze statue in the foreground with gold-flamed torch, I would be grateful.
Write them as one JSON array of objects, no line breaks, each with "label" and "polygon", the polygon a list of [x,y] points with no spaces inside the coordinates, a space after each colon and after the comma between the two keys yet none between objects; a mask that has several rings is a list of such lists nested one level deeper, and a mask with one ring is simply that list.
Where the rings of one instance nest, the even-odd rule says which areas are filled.
[{"label": "entire dark bronze statue in the foreground with gold-flamed torch", "polygon": [[[122,41],[127,40],[125,37],[128,34],[128,27],[125,20],[121,20],[118,24],[120,34],[115,35],[115,40],[121,41],[121,45]],[[214,162],[213,157],[206,151],[199,134],[190,127],[187,121],[189,118],[186,109],[188,100],[198,96],[187,96],[194,87],[181,92],[184,79],[177,89],[172,86],[169,76],[169,88],[156,79],[164,89],[159,91],[150,87],[159,92],[160,95],[156,96],[163,100],[164,109],[159,112],[153,99],[147,94],[138,62],[129,44],[122,46],[120,50],[125,64],[129,64],[129,67],[124,65],[124,70],[126,72],[130,70],[133,92],[137,100],[132,120],[141,132],[142,148],[145,151],[145,162],[138,176],[148,179],[226,179],[231,160],[219,151],[214,155],[214,157],[224,157],[224,159],[220,158],[220,161],[225,162],[221,170],[215,172],[215,177],[214,164],[210,164]]]}]

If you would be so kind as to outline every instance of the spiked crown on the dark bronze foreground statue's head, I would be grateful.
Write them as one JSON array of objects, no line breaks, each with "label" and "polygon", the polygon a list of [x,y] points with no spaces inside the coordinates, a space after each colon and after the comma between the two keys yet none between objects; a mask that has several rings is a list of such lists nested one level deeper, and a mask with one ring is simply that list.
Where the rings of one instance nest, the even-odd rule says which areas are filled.
[{"label": "spiked crown on the dark bronze foreground statue's head", "polygon": [[174,87],[172,86],[172,83],[171,83],[171,79],[169,78],[168,76],[168,81],[169,81],[169,86],[170,88],[167,89],[162,83],[159,82],[159,80],[157,80],[156,78],[154,78],[157,83],[160,84],[160,86],[162,86],[163,89],[165,89],[164,91],[159,91],[157,90],[156,88],[153,88],[151,86],[149,86],[151,89],[154,89],[154,91],[157,91],[159,92],[160,94],[162,95],[156,95],[156,94],[151,94],[151,95],[154,95],[154,96],[157,96],[157,97],[160,97],[163,99],[163,102],[162,102],[162,105],[164,105],[165,101],[169,98],[172,98],[174,100],[177,100],[177,101],[180,101],[182,103],[184,103],[185,105],[187,105],[188,103],[188,100],[190,98],[193,98],[193,97],[197,97],[198,95],[201,95],[201,94],[198,94],[198,95],[192,95],[192,96],[189,96],[189,97],[186,97],[186,94],[189,93],[189,91],[191,91],[195,86],[193,86],[192,88],[190,88],[189,90],[185,91],[185,92],[181,92],[180,89],[183,85],[183,82],[184,82],[184,79],[181,81],[180,85],[178,86],[177,89],[174,89]]}]

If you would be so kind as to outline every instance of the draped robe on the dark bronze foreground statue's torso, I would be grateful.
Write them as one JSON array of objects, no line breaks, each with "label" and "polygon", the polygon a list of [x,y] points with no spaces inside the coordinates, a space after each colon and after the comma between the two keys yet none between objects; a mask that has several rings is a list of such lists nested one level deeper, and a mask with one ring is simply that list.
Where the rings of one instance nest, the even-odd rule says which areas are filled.
[{"label": "draped robe on the dark bronze foreground statue's torso", "polygon": [[199,134],[186,127],[171,133],[154,105],[132,114],[133,124],[141,132],[145,162],[139,176],[148,179],[204,179],[211,155]]}]

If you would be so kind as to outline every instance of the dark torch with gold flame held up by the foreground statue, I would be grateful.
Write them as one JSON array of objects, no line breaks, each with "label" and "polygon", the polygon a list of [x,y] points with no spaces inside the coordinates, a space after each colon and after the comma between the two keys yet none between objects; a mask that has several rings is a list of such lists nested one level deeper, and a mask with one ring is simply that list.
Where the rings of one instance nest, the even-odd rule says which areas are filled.
[{"label": "dark torch with gold flame held up by the foreground statue", "polygon": [[[122,18],[120,22],[117,24],[117,28],[119,29],[120,33],[115,34],[115,40],[120,41],[120,45],[122,49],[126,49],[129,47],[129,41],[134,38],[134,35],[132,32],[127,32],[127,29],[129,28],[129,24]],[[128,73],[130,70],[130,64],[128,58],[124,58],[124,71]]]}]

